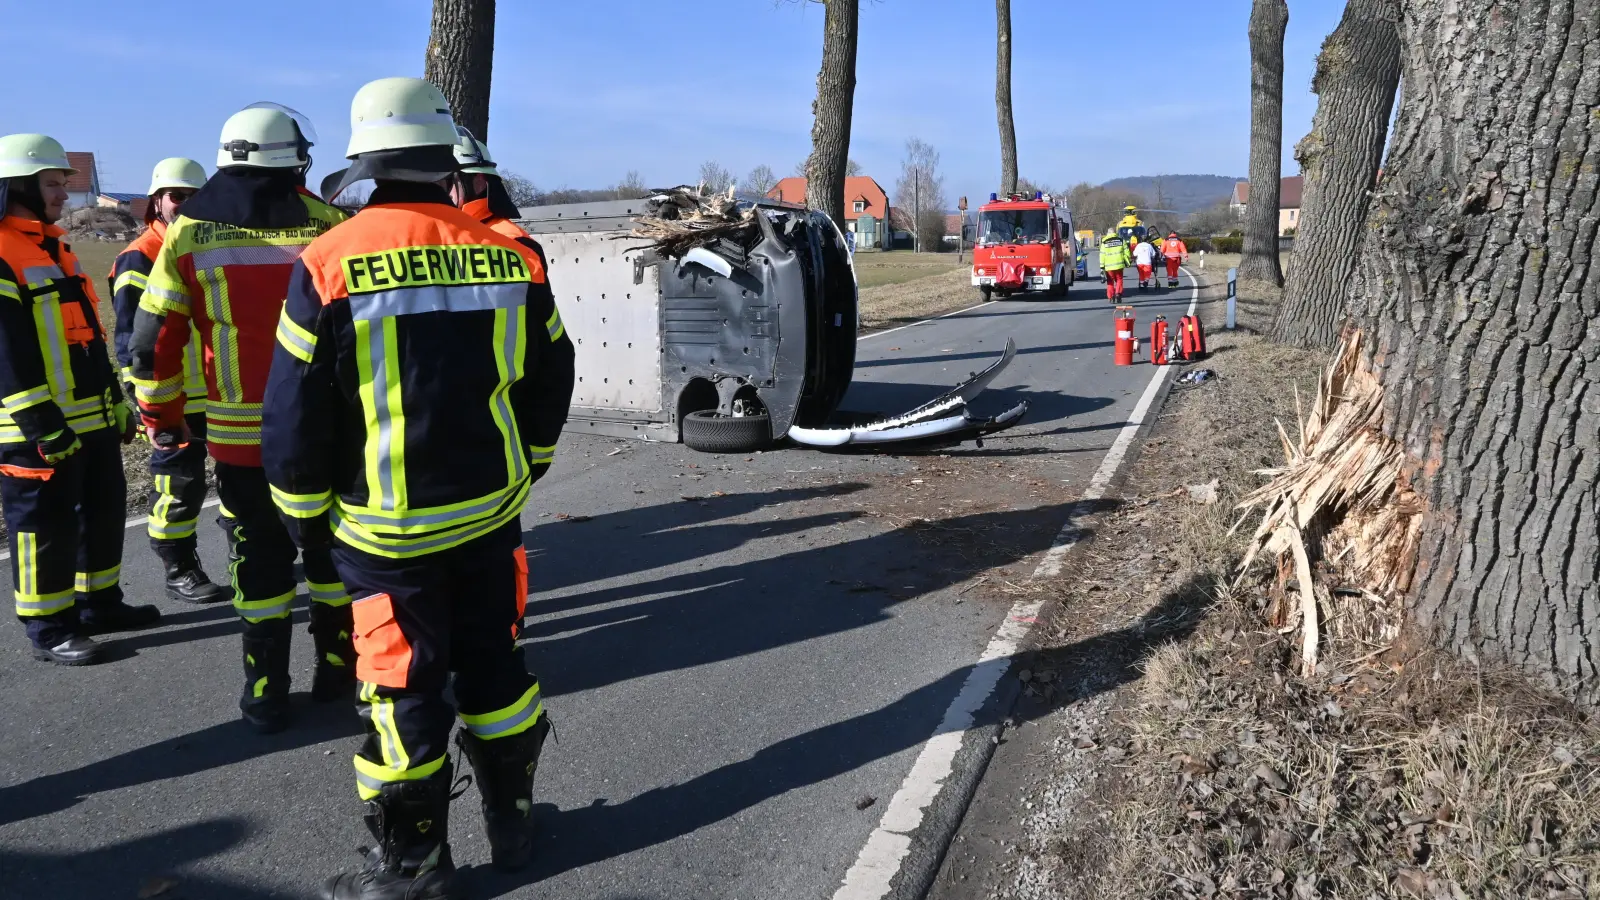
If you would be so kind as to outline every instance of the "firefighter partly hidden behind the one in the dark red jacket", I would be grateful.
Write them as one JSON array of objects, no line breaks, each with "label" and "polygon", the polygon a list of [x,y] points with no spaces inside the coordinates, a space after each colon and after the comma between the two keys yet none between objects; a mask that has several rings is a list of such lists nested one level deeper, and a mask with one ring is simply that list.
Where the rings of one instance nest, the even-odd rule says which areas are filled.
[{"label": "firefighter partly hidden behind the one in the dark red jacket", "polygon": [[[123,250],[110,267],[112,307],[117,311],[117,365],[122,367],[128,402],[136,404],[133,357],[128,338],[139,298],[150,277],[150,266],[162,250],[166,226],[178,221],[184,200],[205,184],[205,168],[195,160],[171,157],[155,163],[150,173],[149,202],[144,208],[144,232]],[[221,585],[213,585],[200,569],[195,552],[195,522],[205,503],[205,370],[200,365],[200,331],[189,335],[184,348],[184,423],[189,445],[154,448],[150,452],[150,548],[166,570],[166,596],[189,604],[214,604],[227,599]]]}]

